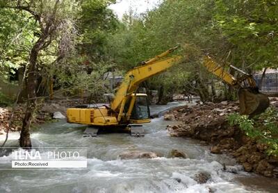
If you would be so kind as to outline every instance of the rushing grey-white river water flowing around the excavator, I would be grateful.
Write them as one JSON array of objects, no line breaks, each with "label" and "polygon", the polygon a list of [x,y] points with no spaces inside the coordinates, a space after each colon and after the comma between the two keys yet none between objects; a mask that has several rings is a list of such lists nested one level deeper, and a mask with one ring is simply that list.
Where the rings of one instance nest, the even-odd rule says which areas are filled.
[{"label": "rushing grey-white river water flowing around the excavator", "polygon": [[[181,104],[153,106],[151,111]],[[247,174],[233,158],[211,154],[209,146],[199,141],[170,137],[165,128],[175,123],[152,119],[144,124],[145,137],[127,133],[83,137],[84,126],[64,120],[44,124],[32,133],[33,146],[88,147],[87,169],[0,170],[0,192],[278,192],[277,179]],[[10,139],[11,146],[18,135],[13,133]],[[172,149],[188,158],[169,158]],[[161,157],[120,160],[119,154],[129,151],[153,151]],[[10,165],[10,159],[3,156],[0,162]],[[199,172],[211,178],[198,184],[194,176]]]}]

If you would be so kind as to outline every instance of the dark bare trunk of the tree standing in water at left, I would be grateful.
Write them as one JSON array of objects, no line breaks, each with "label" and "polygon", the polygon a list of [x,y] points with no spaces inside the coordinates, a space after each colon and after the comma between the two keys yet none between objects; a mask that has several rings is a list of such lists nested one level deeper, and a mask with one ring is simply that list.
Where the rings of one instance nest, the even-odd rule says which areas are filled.
[{"label": "dark bare trunk of the tree standing in water at left", "polygon": [[41,44],[42,44],[42,40],[38,40],[38,42],[35,43],[33,49],[31,50],[31,54],[29,58],[29,67],[28,67],[27,78],[26,78],[27,105],[26,105],[25,116],[22,121],[22,131],[20,133],[19,145],[27,149],[32,147],[29,131],[31,127],[33,113],[37,106],[37,99],[36,99],[37,58],[38,58],[38,53],[40,51]]}]

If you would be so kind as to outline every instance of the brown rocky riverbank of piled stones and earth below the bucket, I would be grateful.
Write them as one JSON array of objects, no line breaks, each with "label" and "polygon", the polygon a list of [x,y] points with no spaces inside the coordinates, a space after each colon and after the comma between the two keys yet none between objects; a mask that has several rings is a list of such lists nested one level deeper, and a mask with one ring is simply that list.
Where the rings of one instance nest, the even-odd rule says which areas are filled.
[{"label": "brown rocky riverbank of piled stones and earth below the bucket", "polygon": [[[277,99],[272,99],[271,104],[277,108]],[[245,171],[278,177],[278,158],[266,154],[267,146],[247,137],[238,126],[229,126],[227,115],[233,112],[238,112],[238,103],[223,101],[174,108],[164,119],[180,121],[180,124],[167,126],[172,137],[202,140],[211,144],[211,153],[234,156]]]}]

